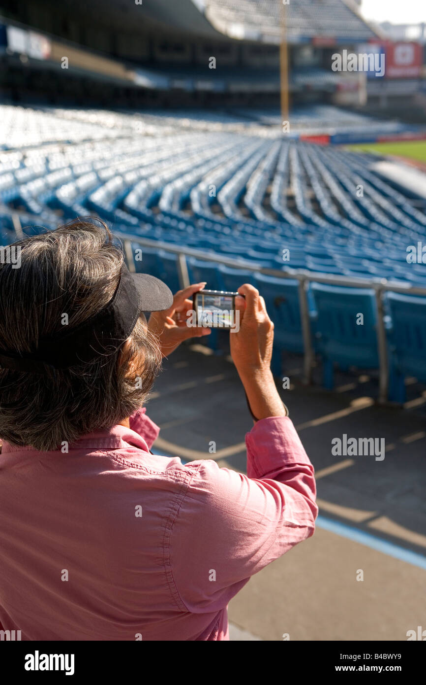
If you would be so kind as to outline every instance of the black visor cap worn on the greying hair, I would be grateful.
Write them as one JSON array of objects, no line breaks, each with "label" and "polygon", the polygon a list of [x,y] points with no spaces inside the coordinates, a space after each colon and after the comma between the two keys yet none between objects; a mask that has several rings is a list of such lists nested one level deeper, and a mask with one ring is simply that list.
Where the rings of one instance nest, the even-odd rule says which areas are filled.
[{"label": "black visor cap worn on the greying hair", "polygon": [[109,303],[92,319],[40,338],[32,353],[0,349],[0,368],[50,375],[112,353],[133,331],[142,312],[159,312],[173,303],[172,291],[147,273],[129,272],[122,264],[120,280]]}]

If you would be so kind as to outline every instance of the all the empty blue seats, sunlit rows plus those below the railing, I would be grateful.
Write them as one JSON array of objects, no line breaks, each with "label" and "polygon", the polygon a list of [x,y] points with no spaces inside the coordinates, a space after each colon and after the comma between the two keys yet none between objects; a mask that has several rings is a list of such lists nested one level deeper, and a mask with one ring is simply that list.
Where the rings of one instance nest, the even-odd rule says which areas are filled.
[{"label": "all the empty blue seats, sunlit rows plus those below the railing", "polygon": [[[195,249],[199,257],[187,258],[191,280],[218,290],[254,282],[262,290],[276,322],[277,373],[282,351],[304,351],[298,282],[254,266],[305,271],[311,281],[315,274],[354,280],[354,288],[309,286],[312,344],[328,387],[334,362],[377,368],[374,291],[356,288],[356,280],[426,287],[425,264],[407,260],[408,248],[425,238],[425,213],[375,173],[369,155],[250,128],[231,132],[217,119],[212,130],[207,119],[190,131],[172,116],[4,106],[0,114],[1,245],[16,240],[20,225],[29,234],[97,214],[133,236],[135,249],[137,238]],[[176,254],[155,247],[143,254],[137,268],[178,290]],[[218,266],[213,255],[243,271]],[[401,379],[412,373],[408,356],[423,350],[423,324],[401,325],[404,297],[418,321],[424,304],[385,296],[390,392],[399,400]]]}]

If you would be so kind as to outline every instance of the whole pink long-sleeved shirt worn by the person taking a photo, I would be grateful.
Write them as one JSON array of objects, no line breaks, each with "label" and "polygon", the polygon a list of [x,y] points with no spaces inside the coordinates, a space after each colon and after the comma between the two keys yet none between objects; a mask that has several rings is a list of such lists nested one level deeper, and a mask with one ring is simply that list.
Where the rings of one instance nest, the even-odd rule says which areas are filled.
[{"label": "whole pink long-sleeved shirt worn by the person taking a photo", "polygon": [[22,640],[228,640],[230,599],[313,534],[314,469],[288,417],[245,436],[248,475],[152,455],[159,428],[145,409],[130,425],[68,453],[3,444],[3,630]]}]

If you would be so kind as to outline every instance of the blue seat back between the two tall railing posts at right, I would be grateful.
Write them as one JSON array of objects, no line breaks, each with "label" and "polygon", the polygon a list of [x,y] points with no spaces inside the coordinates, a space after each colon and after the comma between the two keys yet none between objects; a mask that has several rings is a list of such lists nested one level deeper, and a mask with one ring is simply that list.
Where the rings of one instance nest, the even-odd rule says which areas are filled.
[{"label": "blue seat back between the two tall railing posts at right", "polygon": [[[367,288],[347,288],[310,284],[315,303],[311,314],[315,327],[315,348],[323,360],[323,385],[334,386],[334,362],[341,369],[350,366],[377,369],[377,317],[375,292]],[[360,314],[363,315],[363,323]]]}]

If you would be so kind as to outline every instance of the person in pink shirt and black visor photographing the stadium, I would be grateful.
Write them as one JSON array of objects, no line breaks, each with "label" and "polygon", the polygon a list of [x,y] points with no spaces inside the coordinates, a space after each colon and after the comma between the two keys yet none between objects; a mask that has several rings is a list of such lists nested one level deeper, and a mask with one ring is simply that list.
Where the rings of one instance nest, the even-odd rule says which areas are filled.
[{"label": "person in pink shirt and black visor photographing the stadium", "polygon": [[[99,222],[101,224],[101,222]],[[228,602],[315,530],[314,470],[239,288],[230,351],[254,427],[248,475],[154,456],[161,358],[208,334],[189,299],[130,275],[105,225],[25,238],[0,264],[0,623],[22,640],[228,640]],[[143,312],[152,312],[147,323]]]}]

